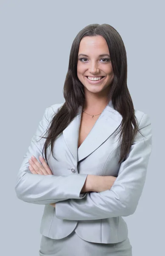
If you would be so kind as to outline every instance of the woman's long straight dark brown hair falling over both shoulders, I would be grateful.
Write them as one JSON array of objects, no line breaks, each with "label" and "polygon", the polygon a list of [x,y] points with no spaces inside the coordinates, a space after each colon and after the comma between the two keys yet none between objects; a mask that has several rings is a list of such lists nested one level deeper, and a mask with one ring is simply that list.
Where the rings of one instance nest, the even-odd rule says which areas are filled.
[{"label": "woman's long straight dark brown hair falling over both shoulders", "polygon": [[120,144],[120,160],[118,163],[121,163],[126,158],[137,131],[140,131],[134,114],[134,105],[127,87],[127,57],[123,40],[117,30],[109,24],[90,24],[76,35],[70,50],[69,66],[63,88],[65,102],[53,116],[46,131],[48,136],[40,136],[46,139],[42,150],[42,156],[44,151],[46,161],[46,149],[51,145],[50,152],[55,158],[53,145],[57,136],[60,135],[74,119],[78,107],[84,104],[84,85],[77,77],[79,44],[81,39],[85,36],[96,35],[101,35],[106,40],[114,72],[114,79],[110,85],[109,95],[107,95],[108,102],[112,100],[114,109],[123,117],[120,129],[117,132],[117,134],[120,132],[119,139],[122,137],[122,143]]}]

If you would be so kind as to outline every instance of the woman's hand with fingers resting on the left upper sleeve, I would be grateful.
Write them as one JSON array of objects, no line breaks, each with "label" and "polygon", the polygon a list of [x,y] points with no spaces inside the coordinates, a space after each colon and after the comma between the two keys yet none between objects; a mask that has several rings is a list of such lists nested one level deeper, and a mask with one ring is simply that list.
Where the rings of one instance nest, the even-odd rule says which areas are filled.
[{"label": "woman's hand with fingers resting on the left upper sleeve", "polygon": [[[39,160],[41,161],[42,164],[40,164],[39,161],[34,156],[32,156],[29,159],[29,170],[31,171],[31,173],[39,174],[39,175],[53,175],[45,159],[39,156]],[[56,207],[56,203],[53,203],[50,205],[52,205],[53,207]]]}]

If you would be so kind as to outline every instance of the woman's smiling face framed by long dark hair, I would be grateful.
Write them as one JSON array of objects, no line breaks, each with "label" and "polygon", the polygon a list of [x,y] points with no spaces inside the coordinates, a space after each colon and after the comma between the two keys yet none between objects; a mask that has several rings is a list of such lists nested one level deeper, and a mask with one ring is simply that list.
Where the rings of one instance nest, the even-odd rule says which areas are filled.
[{"label": "woman's smiling face framed by long dark hair", "polygon": [[[86,36],[79,45],[77,76],[84,85],[85,93],[107,95],[114,79],[106,40],[101,36]],[[100,79],[91,81],[92,77]]]}]

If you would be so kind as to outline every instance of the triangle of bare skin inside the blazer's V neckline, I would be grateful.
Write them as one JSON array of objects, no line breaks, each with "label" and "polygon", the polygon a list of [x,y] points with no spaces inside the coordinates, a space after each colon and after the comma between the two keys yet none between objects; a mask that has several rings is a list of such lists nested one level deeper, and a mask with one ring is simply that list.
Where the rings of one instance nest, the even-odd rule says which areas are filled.
[{"label": "triangle of bare skin inside the blazer's V neckline", "polygon": [[92,117],[87,115],[87,113],[82,113],[81,124],[79,129],[78,148],[83,143],[85,138],[88,136],[89,132],[92,130],[92,127],[99,118],[99,116],[100,115]]}]

